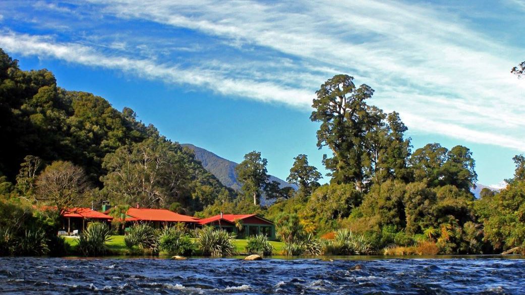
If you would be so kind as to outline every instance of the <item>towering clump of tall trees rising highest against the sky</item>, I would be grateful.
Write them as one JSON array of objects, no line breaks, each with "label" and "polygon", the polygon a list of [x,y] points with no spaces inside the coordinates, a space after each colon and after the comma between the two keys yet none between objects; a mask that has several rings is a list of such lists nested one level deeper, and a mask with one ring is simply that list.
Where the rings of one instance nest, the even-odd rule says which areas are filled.
[{"label": "towering clump of tall trees rising highest against the sky", "polygon": [[332,151],[332,157],[323,158],[332,171],[332,181],[354,183],[362,192],[371,181],[407,180],[409,176],[407,128],[398,113],[385,114],[366,104],[373,93],[366,84],[356,87],[349,75],[335,75],[316,92],[310,116],[311,121],[321,123],[317,146]]}]

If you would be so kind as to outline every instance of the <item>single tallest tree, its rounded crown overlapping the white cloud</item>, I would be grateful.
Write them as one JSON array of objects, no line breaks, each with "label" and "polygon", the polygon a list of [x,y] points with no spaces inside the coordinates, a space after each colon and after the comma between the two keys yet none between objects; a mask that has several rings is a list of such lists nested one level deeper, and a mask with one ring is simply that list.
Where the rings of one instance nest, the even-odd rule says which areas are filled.
[{"label": "single tallest tree, its rounded crown overlapping the white cloud", "polygon": [[317,146],[328,146],[332,157],[324,156],[323,162],[332,171],[332,181],[354,182],[362,190],[363,182],[370,177],[370,147],[366,133],[381,122],[380,112],[372,112],[365,100],[374,90],[368,85],[359,88],[349,75],[335,75],[321,85],[313,100],[310,119],[321,122],[317,131]]}]

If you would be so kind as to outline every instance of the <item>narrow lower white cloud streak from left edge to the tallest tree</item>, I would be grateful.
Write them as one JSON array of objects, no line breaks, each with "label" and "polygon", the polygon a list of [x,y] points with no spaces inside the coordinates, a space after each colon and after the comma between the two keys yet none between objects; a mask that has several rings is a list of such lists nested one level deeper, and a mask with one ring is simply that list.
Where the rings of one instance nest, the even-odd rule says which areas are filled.
[{"label": "narrow lower white cloud streak from left edge to the tallest tree", "polygon": [[269,82],[248,79],[232,80],[211,69],[182,69],[174,64],[158,64],[146,59],[107,57],[90,47],[77,43],[55,42],[49,36],[5,34],[0,35],[0,45],[8,51],[25,55],[47,56],[88,66],[118,69],[147,79],[205,86],[221,94],[248,97],[263,102],[286,100],[286,103],[291,106],[301,107],[302,102],[312,96],[300,89],[283,88]]}]

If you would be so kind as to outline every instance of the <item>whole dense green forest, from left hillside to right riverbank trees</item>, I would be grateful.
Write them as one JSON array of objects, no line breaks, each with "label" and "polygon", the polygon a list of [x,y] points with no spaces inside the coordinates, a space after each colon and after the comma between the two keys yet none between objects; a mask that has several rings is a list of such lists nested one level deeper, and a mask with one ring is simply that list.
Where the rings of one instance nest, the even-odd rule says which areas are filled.
[{"label": "whole dense green forest, from left hillside to right riverbank trees", "polygon": [[[330,151],[323,158],[329,183],[320,185],[321,174],[300,154],[287,179],[298,189],[281,187],[252,151],[235,168],[241,188],[234,191],[130,108],[119,112],[102,97],[61,89],[53,73],[20,70],[0,50],[0,254],[8,238],[31,233],[47,235],[53,248],[61,210],[106,200],[196,216],[258,213],[276,222],[288,245],[337,238],[343,229],[376,253],[523,250],[525,158],[514,157],[506,189],[476,199],[471,151],[437,143],[413,150],[400,114],[369,104],[373,93],[348,75],[316,92],[310,119],[319,124],[318,147]],[[274,202],[261,206],[262,195]],[[56,207],[55,215],[35,205]]]}]

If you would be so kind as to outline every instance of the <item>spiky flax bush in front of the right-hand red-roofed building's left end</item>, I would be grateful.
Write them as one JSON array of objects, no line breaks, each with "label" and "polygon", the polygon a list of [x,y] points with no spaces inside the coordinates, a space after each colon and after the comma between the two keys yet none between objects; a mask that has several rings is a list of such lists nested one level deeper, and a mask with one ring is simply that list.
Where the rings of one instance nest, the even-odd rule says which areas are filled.
[{"label": "spiky flax bush in front of the right-hand red-roofed building's left end", "polygon": [[197,244],[204,256],[231,256],[235,254],[235,235],[213,227],[205,227],[197,233]]}]

